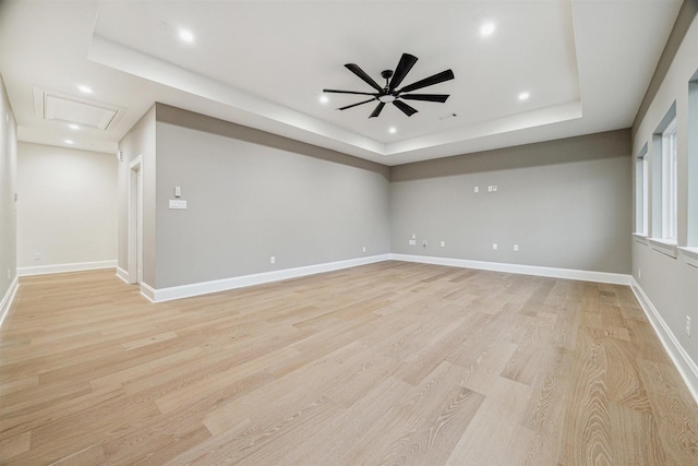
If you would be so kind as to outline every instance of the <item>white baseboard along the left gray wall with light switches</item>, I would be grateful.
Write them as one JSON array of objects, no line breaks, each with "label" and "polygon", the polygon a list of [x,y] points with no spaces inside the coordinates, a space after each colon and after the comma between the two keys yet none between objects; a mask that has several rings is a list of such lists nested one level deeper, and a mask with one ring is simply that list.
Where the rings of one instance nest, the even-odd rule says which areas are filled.
[{"label": "white baseboard along the left gray wall with light switches", "polygon": [[389,255],[390,254],[371,255],[368,258],[349,259],[347,261],[328,262],[325,264],[308,265],[304,267],[285,268],[281,271],[224,278],[213,282],[173,286],[170,288],[154,289],[148,285],[142,284],[141,294],[153,302],[170,301],[172,299],[189,298],[192,296],[207,295],[209,292],[226,291],[246,286],[262,285],[270,282],[279,282],[289,278],[320,274],[323,272],[333,272],[341,268],[384,262],[389,260]]}]

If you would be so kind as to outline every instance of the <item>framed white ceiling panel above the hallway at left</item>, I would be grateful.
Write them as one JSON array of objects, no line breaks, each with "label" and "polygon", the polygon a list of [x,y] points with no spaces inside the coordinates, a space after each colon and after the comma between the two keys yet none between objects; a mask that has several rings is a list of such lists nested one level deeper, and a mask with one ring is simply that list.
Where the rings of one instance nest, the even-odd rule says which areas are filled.
[{"label": "framed white ceiling panel above the hallway at left", "polygon": [[76,123],[106,131],[125,112],[125,108],[83,97],[34,87],[36,115],[49,121]]}]

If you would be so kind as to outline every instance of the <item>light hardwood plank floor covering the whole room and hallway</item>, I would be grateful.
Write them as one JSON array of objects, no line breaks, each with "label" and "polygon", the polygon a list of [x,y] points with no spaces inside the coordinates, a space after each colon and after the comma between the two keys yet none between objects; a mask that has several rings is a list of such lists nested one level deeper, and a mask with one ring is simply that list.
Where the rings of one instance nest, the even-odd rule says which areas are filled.
[{"label": "light hardwood plank floor covering the whole room and hallway", "polygon": [[384,262],[152,304],[103,271],[8,319],[2,464],[698,464],[625,286]]}]

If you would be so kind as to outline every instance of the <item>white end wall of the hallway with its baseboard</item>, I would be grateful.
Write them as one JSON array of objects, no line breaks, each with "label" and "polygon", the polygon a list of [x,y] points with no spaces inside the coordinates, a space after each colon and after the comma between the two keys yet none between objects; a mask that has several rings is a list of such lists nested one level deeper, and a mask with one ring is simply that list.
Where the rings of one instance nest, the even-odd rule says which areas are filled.
[{"label": "white end wall of the hallway with its baseboard", "polygon": [[17,190],[21,274],[116,265],[113,154],[20,143]]}]

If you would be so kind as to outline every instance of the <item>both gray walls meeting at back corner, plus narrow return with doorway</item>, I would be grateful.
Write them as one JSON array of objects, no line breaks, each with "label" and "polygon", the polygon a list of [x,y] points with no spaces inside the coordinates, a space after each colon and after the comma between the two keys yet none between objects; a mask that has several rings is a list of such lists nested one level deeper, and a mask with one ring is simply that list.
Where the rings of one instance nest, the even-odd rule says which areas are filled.
[{"label": "both gray walls meeting at back corner, plus narrow return with doorway", "polygon": [[[156,289],[388,252],[628,273],[629,140],[622,130],[389,169],[157,104],[121,142],[119,265],[128,165],[143,154],[144,282]],[[188,210],[168,208],[174,187]]]}]

